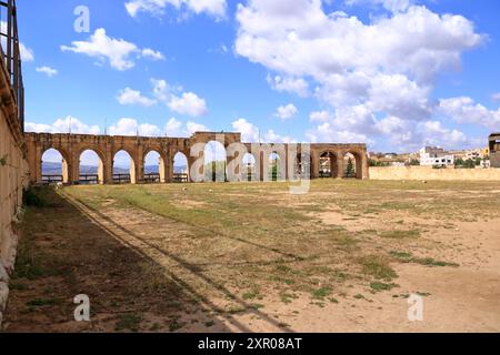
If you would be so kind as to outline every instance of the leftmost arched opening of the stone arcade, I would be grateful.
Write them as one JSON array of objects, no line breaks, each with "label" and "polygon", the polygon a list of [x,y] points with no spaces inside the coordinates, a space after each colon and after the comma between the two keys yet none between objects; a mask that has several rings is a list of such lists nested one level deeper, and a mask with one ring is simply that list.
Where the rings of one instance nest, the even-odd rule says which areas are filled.
[{"label": "leftmost arched opening of the stone arcade", "polygon": [[[50,156],[52,154],[52,156]],[[50,161],[49,161],[50,159]],[[61,160],[60,168],[59,161]],[[47,160],[47,162],[44,161]],[[71,182],[71,165],[70,165],[70,155],[60,148],[56,148],[50,145],[48,148],[43,148],[41,151],[40,163],[39,163],[39,176],[41,176],[41,182],[47,183],[70,183]],[[52,165],[51,164],[58,164]],[[52,171],[52,172],[51,172]]]}]

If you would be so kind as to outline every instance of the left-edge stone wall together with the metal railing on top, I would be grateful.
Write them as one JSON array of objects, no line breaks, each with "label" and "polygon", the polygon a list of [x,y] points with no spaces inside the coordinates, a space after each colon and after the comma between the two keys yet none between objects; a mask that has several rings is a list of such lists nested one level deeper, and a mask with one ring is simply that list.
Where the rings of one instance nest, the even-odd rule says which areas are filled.
[{"label": "left-edge stone wall together with the metal railing on top", "polygon": [[24,93],[16,6],[12,0],[0,4],[0,16],[4,13],[8,13],[8,18],[1,19],[0,49],[0,325],[9,295],[9,277],[16,261],[18,235],[14,220],[22,205],[23,187],[29,183],[22,134]]}]

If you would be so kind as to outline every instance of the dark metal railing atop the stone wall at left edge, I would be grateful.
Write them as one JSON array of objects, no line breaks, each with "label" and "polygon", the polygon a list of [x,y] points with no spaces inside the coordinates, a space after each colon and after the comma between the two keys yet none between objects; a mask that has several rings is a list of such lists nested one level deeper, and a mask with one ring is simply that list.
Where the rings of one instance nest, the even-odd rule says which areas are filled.
[{"label": "dark metal railing atop the stone wall at left edge", "polygon": [[22,81],[16,0],[0,1],[0,55],[10,77],[10,84],[18,106],[18,119],[22,132],[24,132],[24,84]]}]

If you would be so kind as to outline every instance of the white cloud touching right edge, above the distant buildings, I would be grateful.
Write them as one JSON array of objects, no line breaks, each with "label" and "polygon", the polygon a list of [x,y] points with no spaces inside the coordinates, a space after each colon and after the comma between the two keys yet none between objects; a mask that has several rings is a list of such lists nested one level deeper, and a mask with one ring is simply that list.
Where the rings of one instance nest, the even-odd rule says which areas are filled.
[{"label": "white cloud touching right edge, above the distant buildings", "polygon": [[439,102],[442,114],[462,124],[481,124],[483,126],[500,129],[500,109],[488,110],[482,104],[476,103],[471,98],[451,98]]}]

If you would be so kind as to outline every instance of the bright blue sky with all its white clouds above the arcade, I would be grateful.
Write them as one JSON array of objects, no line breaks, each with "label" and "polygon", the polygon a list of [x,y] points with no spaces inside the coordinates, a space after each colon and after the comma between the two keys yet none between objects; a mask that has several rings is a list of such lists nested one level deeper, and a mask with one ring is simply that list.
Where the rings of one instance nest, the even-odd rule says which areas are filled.
[{"label": "bright blue sky with all its white clouds above the arcade", "polygon": [[[486,146],[500,130],[499,1],[156,3],[19,0],[28,130],[398,152]],[[90,32],[74,30],[78,6]]]}]

